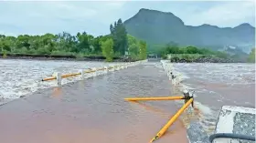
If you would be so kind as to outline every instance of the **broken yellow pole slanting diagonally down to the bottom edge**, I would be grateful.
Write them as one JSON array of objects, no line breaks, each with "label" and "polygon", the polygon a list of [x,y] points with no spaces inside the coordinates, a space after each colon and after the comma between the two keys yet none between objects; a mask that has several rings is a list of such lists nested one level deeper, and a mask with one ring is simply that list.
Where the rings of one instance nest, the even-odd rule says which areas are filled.
[{"label": "broken yellow pole slanting diagonally down to the bottom edge", "polygon": [[190,98],[187,103],[181,107],[177,112],[176,112],[176,115],[174,117],[172,117],[168,122],[167,124],[164,126],[164,128],[162,128],[154,138],[152,138],[150,140],[150,143],[152,143],[153,141],[155,141],[157,138],[160,138],[162,137],[164,134],[165,134],[165,131],[176,121],[176,118],[179,117],[182,112],[193,102],[193,98]]}]

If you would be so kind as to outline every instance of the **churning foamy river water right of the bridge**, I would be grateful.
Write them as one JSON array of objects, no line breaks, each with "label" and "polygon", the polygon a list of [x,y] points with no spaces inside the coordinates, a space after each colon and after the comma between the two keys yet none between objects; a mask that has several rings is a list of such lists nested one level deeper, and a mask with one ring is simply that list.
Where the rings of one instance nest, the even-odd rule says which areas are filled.
[{"label": "churning foamy river water right of the bridge", "polygon": [[[231,92],[240,87],[245,90],[245,94],[246,87],[255,85],[255,66],[252,64],[174,64],[168,61],[162,63],[166,70],[171,70],[178,76],[174,84],[178,85],[180,94],[184,89],[195,91],[195,107],[199,110],[198,121],[208,134],[212,134],[215,129],[221,106],[231,103],[244,106],[252,104],[248,101],[242,103],[240,99],[234,100],[234,92]],[[222,90],[225,92],[220,92]],[[234,99],[226,97],[223,93],[231,95]],[[176,103],[184,104],[181,101]]]}]

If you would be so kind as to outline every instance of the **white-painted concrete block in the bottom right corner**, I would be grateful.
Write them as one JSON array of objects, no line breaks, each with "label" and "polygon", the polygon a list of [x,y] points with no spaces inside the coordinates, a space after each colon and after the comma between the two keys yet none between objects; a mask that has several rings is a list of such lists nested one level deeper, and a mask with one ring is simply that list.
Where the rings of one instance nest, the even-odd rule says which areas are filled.
[{"label": "white-painted concrete block in the bottom right corner", "polygon": [[[219,112],[219,118],[215,134],[231,133],[237,135],[252,136],[255,138],[255,108],[223,106]],[[235,138],[215,138],[213,143],[252,143]]]}]

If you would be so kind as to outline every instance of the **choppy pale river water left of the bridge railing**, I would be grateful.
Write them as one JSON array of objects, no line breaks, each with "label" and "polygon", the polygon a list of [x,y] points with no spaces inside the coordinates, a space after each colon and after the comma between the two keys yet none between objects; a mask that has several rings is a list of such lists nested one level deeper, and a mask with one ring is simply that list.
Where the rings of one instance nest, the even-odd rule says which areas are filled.
[{"label": "choppy pale river water left of the bridge railing", "polygon": [[[84,61],[41,61],[0,59],[0,103],[31,94],[38,89],[56,86],[56,81],[42,82],[44,77],[51,77],[53,72],[63,74],[77,73],[80,69],[113,66],[120,63],[84,62]],[[103,72],[99,72],[104,74]],[[91,74],[87,74],[91,77]],[[62,84],[80,80],[80,77],[62,79]]]}]

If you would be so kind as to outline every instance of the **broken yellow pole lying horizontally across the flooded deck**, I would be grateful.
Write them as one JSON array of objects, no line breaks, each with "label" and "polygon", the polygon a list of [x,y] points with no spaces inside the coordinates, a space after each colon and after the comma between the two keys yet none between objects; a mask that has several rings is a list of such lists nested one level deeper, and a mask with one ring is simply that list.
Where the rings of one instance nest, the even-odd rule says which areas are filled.
[{"label": "broken yellow pole lying horizontally across the flooded deck", "polygon": [[124,98],[128,101],[147,101],[147,100],[178,100],[178,99],[185,99],[184,97],[131,97],[131,98]]}]

